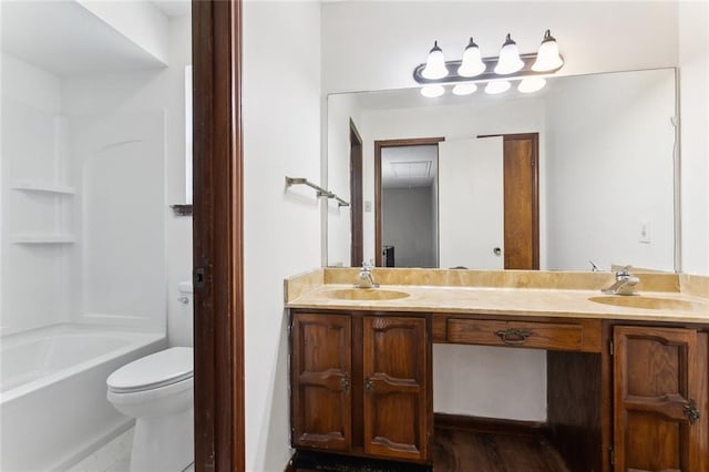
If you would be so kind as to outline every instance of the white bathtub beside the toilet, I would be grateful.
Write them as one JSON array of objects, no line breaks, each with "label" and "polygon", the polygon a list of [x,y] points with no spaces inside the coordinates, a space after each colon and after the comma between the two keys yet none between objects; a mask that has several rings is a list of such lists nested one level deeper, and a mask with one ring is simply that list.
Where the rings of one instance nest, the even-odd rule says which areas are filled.
[{"label": "white bathtub beside the toilet", "polygon": [[130,428],[106,378],[165,346],[164,335],[86,325],[0,338],[0,471],[63,470]]}]

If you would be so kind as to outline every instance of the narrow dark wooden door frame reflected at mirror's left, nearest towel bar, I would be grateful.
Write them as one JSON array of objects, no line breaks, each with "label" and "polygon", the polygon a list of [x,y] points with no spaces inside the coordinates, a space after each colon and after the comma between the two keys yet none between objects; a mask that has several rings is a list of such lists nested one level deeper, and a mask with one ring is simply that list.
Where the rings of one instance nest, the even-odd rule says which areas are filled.
[{"label": "narrow dark wooden door frame reflected at mirror's left, nearest towel bar", "polygon": [[363,142],[350,119],[350,266],[359,267],[364,260],[364,229],[362,226]]}]

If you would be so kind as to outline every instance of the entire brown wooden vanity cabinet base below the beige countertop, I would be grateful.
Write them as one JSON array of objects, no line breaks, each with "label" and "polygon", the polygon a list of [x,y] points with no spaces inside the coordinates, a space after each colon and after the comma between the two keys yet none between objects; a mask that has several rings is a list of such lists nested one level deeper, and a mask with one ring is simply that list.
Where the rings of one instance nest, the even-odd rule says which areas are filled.
[{"label": "entire brown wooden vanity cabinet base below the beige countertop", "polygon": [[290,317],[299,451],[435,465],[432,345],[462,343],[547,351],[543,435],[566,470],[709,471],[706,325],[309,308]]}]

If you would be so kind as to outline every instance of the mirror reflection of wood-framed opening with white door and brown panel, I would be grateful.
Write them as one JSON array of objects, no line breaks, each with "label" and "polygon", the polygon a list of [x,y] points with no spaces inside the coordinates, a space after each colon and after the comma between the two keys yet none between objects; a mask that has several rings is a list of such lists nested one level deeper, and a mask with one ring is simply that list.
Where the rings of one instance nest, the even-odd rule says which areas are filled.
[{"label": "mirror reflection of wood-framed opening with white door and brown panel", "polygon": [[377,141],[374,185],[378,266],[538,269],[537,133]]}]

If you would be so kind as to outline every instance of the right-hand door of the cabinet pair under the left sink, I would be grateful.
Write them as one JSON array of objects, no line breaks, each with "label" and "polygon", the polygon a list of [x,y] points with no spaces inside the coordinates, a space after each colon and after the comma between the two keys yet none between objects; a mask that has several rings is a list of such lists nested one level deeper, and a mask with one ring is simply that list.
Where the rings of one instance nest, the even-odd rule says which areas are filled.
[{"label": "right-hand door of the cabinet pair under the left sink", "polygon": [[366,454],[428,460],[430,349],[424,318],[364,317]]}]

